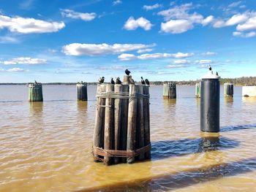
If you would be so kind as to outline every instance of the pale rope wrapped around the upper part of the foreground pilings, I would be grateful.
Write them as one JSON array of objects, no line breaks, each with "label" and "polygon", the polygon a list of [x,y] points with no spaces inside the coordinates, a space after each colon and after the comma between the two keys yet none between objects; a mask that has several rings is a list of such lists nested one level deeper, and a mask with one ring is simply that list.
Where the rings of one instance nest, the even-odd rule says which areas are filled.
[{"label": "pale rope wrapped around the upper part of the foreground pilings", "polygon": [[97,93],[96,97],[106,99],[139,99],[149,98],[149,94],[108,91]]}]

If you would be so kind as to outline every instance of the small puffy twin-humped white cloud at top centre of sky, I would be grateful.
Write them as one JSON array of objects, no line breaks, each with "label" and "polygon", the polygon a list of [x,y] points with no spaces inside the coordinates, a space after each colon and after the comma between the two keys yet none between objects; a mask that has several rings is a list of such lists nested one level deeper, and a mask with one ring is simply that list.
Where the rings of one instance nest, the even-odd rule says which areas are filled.
[{"label": "small puffy twin-humped white cloud at top centre of sky", "polygon": [[152,26],[153,25],[150,23],[150,21],[143,17],[140,17],[137,20],[135,20],[133,17],[129,17],[127,22],[124,24],[124,28],[127,30],[135,30],[136,28],[141,27],[148,31]]}]

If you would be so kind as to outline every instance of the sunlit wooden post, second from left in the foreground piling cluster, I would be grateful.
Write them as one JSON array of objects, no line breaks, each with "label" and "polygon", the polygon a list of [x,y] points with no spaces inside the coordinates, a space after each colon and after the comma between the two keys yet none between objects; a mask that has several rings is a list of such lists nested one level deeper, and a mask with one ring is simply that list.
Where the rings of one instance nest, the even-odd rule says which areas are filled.
[{"label": "sunlit wooden post, second from left in the foreground piling cluster", "polygon": [[[106,86],[107,93],[113,93],[114,85],[108,84]],[[104,138],[104,149],[105,150],[113,150],[113,120],[114,120],[114,99],[107,98],[106,99],[106,107],[105,107],[105,138]],[[112,159],[110,157],[104,157],[105,164],[112,164]]]}]

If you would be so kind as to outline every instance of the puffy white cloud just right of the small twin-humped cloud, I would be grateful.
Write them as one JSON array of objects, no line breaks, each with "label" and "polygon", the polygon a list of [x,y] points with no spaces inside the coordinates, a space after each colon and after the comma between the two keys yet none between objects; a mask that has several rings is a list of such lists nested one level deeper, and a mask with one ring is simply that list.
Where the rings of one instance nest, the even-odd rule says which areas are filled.
[{"label": "puffy white cloud just right of the small twin-humped cloud", "polygon": [[181,34],[193,28],[189,20],[169,20],[167,23],[161,23],[161,31],[170,34]]}]

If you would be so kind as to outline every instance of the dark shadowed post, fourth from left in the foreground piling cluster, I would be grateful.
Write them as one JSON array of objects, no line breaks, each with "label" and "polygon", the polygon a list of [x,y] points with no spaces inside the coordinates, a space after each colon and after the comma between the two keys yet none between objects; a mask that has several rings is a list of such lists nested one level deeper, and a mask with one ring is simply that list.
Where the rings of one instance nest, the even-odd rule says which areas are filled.
[{"label": "dark shadowed post, fourth from left in the foreground piling cluster", "polygon": [[[129,85],[123,85],[124,93],[129,93]],[[121,150],[127,150],[127,125],[128,125],[128,105],[129,99],[122,99],[121,106]],[[121,158],[122,163],[127,162],[127,158]]]}]

